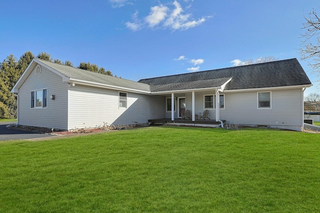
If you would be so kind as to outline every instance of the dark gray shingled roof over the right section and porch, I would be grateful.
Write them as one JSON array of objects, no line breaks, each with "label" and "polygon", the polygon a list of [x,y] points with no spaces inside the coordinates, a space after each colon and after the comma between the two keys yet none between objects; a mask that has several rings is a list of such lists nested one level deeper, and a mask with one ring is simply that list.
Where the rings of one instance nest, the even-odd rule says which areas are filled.
[{"label": "dark gray shingled roof over the right section and porch", "polygon": [[158,92],[221,86],[225,79],[231,77],[232,80],[226,84],[224,90],[311,84],[296,58],[141,79],[138,82],[148,84],[152,92]]}]

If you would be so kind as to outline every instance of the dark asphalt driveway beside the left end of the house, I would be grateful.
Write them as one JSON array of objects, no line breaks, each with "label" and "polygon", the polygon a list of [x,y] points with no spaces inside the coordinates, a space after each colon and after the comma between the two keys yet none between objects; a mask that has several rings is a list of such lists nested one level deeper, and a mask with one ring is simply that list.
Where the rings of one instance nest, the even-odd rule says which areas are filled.
[{"label": "dark asphalt driveway beside the left end of the house", "polygon": [[46,137],[53,136],[49,134],[39,134],[34,132],[27,132],[22,130],[5,128],[9,124],[15,124],[15,122],[0,122],[0,141],[20,140],[20,139],[25,140],[25,139],[46,138]]}]

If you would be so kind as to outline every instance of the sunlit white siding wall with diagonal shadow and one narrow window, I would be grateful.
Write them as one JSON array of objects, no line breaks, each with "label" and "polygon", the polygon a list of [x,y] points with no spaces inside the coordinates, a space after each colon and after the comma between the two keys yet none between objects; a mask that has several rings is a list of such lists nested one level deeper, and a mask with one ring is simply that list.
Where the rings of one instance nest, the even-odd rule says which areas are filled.
[{"label": "sunlit white siding wall with diagonal shadow and one narrow window", "polygon": [[164,118],[165,97],[127,92],[127,108],[119,108],[119,91],[75,85],[69,89],[68,129],[147,123]]}]

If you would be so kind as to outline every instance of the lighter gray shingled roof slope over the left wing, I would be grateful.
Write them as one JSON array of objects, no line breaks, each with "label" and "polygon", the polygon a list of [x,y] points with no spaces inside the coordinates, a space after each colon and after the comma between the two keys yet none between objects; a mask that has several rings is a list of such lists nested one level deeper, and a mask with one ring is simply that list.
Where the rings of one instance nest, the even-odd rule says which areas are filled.
[{"label": "lighter gray shingled roof slope over the left wing", "polygon": [[47,66],[51,67],[52,69],[62,73],[63,75],[69,78],[150,92],[150,86],[144,83],[130,81],[109,75],[103,75],[100,73],[91,72],[57,63],[52,63],[38,58],[37,60],[41,61],[42,63],[46,64]]}]

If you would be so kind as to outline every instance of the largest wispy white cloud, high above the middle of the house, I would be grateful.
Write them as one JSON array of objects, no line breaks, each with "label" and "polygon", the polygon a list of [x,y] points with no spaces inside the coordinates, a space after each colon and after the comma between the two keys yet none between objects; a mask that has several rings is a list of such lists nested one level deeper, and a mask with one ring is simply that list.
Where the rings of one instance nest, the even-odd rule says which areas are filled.
[{"label": "largest wispy white cloud, high above the middle of the house", "polygon": [[[123,4],[126,0],[110,0],[110,1],[119,1],[119,4]],[[189,0],[184,0],[185,2]],[[172,5],[173,8],[169,8]],[[190,7],[187,6],[186,9]],[[152,6],[150,8],[150,12],[147,16],[141,18],[140,20],[136,19],[133,22],[126,22],[126,26],[129,29],[138,30],[143,28],[145,25],[150,28],[154,28],[156,26],[163,29],[171,29],[171,30],[186,30],[203,23],[207,18],[212,16],[202,16],[197,20],[192,18],[191,13],[185,13],[177,0],[174,0],[172,3],[163,5],[159,4],[156,6]],[[139,23],[140,28],[131,27],[132,23]],[[128,23],[128,24],[127,24]]]}]

